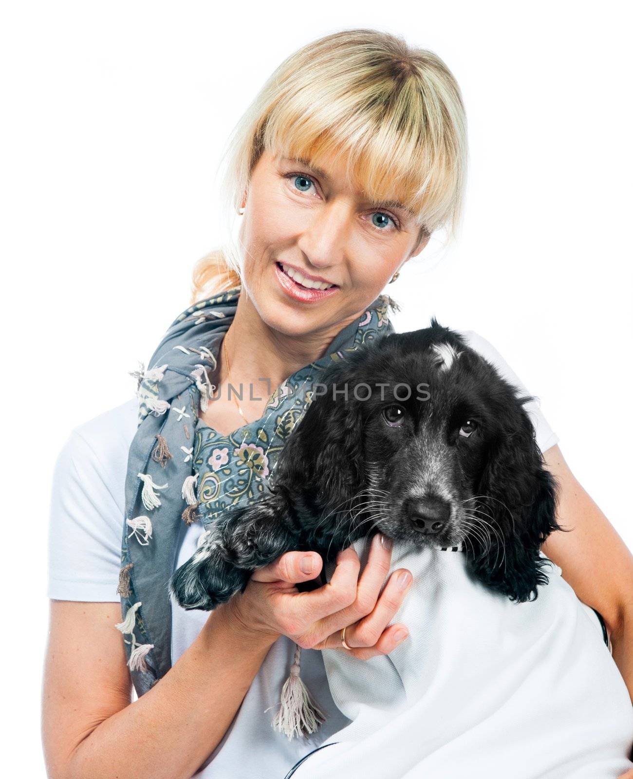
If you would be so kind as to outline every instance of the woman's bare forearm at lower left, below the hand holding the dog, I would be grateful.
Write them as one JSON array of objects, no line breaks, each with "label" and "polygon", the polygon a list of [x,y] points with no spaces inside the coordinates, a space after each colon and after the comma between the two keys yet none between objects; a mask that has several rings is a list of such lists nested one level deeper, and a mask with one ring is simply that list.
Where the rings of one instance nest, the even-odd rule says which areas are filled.
[{"label": "woman's bare forearm at lower left, below the hand holding the dog", "polygon": [[274,639],[245,640],[223,608],[152,689],[72,753],[68,779],[189,779],[232,722]]}]

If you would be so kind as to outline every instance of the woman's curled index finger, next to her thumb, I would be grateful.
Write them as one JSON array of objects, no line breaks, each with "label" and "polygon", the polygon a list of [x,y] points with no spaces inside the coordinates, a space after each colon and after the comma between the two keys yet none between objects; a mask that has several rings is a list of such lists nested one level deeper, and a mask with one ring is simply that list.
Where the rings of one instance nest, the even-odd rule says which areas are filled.
[{"label": "woman's curled index finger, next to her thumb", "polygon": [[352,546],[336,555],[336,568],[329,582],[311,592],[296,594],[289,610],[309,622],[318,622],[332,612],[346,608],[356,597],[360,570],[359,555]]}]

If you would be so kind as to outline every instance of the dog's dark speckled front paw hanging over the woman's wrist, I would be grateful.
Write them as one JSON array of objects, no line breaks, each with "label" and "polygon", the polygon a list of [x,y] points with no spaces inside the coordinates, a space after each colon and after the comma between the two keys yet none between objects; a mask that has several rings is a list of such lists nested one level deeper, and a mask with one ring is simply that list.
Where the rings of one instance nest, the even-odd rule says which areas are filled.
[{"label": "dog's dark speckled front paw hanging over the woman's wrist", "polygon": [[196,549],[192,557],[175,571],[168,589],[179,606],[190,611],[213,611],[246,586],[249,571],[226,562],[213,543]]}]

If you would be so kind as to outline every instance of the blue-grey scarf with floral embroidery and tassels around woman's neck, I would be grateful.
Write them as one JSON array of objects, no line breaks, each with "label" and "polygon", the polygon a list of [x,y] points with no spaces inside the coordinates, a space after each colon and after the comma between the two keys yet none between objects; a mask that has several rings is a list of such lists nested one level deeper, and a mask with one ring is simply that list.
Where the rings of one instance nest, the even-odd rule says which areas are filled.
[{"label": "blue-grey scarf with floral embroidery and tassels around woman's neck", "polygon": [[[215,386],[217,354],[233,321],[241,287],[187,308],[137,375],[138,427],[129,449],[126,516],[118,594],[130,675],[140,697],[171,668],[172,602],[168,580],[181,534],[194,521],[208,530],[230,506],[255,502],[278,454],[332,361],[393,332],[386,294],[345,326],[324,357],[293,373],[268,399],[263,416],[230,435],[204,425]],[[199,544],[205,533],[201,534]]]}]

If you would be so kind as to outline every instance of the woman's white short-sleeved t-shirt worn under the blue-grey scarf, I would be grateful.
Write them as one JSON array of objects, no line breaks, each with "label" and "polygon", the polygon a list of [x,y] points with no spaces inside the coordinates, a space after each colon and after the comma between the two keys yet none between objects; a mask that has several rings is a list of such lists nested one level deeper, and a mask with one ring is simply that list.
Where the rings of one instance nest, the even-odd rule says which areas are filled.
[{"label": "woman's white short-sleeved t-shirt worn under the blue-grey scarf", "polygon": [[[461,334],[522,395],[530,394],[488,341],[472,331]],[[534,425],[539,448],[545,452],[557,443],[557,435],[541,413],[538,401],[526,404],[525,410]],[[124,485],[129,446],[136,432],[136,412],[137,400],[132,398],[74,428],[58,455],[48,537],[48,597],[52,599],[120,600],[116,590],[125,515]],[[193,555],[202,532],[201,523],[193,523],[181,535],[176,568]],[[207,619],[208,612],[185,611],[172,604],[172,664],[193,643]],[[274,710],[264,711],[278,703],[293,650],[294,643],[285,636],[271,647],[232,727],[197,775],[209,779],[282,779],[302,756],[348,724],[329,693],[321,653],[304,650],[302,679],[325,710],[327,721],[313,736],[292,741],[271,728]]]}]

